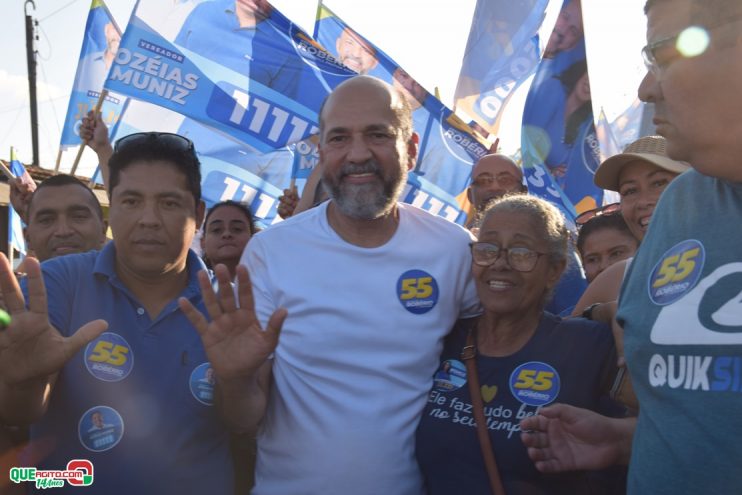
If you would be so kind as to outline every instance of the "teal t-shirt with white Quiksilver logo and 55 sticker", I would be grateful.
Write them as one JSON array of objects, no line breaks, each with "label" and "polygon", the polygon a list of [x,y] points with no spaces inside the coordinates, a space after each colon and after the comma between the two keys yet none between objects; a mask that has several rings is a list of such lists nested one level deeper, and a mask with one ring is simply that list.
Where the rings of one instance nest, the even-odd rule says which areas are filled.
[{"label": "teal t-shirt with white Quiksilver logo and 55 sticker", "polygon": [[641,405],[628,493],[742,493],[742,183],[662,193],[616,319]]}]

